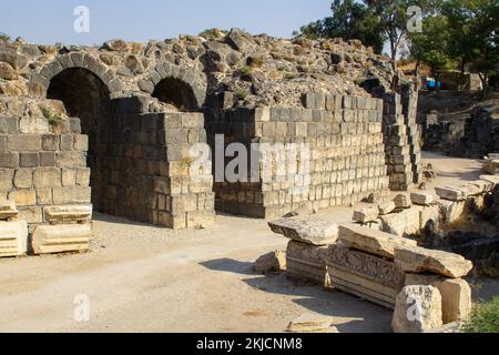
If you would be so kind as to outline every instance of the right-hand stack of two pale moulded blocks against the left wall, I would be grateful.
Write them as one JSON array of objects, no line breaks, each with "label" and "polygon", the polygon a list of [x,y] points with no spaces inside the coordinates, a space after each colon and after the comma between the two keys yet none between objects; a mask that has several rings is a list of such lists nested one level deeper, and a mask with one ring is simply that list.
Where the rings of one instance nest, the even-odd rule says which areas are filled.
[{"label": "right-hand stack of two pale moulded blocks against the left wall", "polygon": [[31,236],[33,254],[86,252],[92,227],[91,205],[45,206],[50,225],[39,225]]}]

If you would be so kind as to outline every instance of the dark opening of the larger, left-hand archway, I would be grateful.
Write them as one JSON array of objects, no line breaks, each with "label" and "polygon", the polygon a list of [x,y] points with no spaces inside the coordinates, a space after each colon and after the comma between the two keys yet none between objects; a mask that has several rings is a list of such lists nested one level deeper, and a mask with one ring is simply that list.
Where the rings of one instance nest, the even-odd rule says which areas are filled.
[{"label": "dark opening of the larger, left-hand archway", "polygon": [[105,132],[104,121],[110,114],[109,89],[91,71],[71,68],[51,79],[47,98],[62,101],[68,114],[80,119],[81,133],[89,136],[86,165],[91,169],[92,203],[95,210],[102,211],[105,189],[103,174],[99,170],[99,158],[103,158],[99,136]]}]

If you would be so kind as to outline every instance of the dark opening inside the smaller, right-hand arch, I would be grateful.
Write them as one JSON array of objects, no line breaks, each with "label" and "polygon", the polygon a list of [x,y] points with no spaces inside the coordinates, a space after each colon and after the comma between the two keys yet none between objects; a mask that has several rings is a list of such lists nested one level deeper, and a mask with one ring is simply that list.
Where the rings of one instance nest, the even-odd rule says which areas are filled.
[{"label": "dark opening inside the smaller, right-hand arch", "polygon": [[161,102],[175,106],[179,111],[197,111],[197,100],[192,88],[182,80],[166,78],[160,81],[152,94]]}]

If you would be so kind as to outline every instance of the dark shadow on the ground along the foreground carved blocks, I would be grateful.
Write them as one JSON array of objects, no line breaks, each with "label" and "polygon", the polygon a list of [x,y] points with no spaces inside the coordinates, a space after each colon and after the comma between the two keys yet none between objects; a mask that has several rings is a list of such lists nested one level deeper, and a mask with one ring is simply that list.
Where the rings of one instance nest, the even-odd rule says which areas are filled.
[{"label": "dark shadow on the ground along the foreground carved blocks", "polygon": [[247,276],[242,281],[252,288],[291,296],[294,303],[309,312],[333,316],[337,320],[335,326],[340,333],[371,333],[373,329],[379,333],[390,332],[393,311],[356,296],[292,280],[285,273],[262,275],[253,271],[253,263],[237,260],[218,258],[201,265],[216,272]]}]

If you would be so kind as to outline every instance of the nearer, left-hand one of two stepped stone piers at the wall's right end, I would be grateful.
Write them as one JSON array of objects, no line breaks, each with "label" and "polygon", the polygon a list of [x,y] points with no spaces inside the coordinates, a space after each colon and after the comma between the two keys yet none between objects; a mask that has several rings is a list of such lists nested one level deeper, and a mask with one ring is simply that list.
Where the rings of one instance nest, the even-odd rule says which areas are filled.
[{"label": "nearer, left-hand one of two stepped stone piers at the wall's right end", "polygon": [[[400,95],[386,93],[384,103],[383,131],[385,133],[389,187],[393,191],[407,191],[415,180],[409,134],[413,134],[413,142],[416,143],[417,141],[414,131],[409,132],[408,125],[405,123]],[[416,152],[415,146],[414,152]],[[413,155],[416,156],[416,153]]]}]

